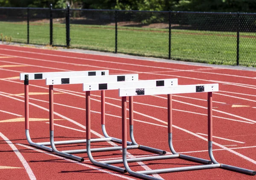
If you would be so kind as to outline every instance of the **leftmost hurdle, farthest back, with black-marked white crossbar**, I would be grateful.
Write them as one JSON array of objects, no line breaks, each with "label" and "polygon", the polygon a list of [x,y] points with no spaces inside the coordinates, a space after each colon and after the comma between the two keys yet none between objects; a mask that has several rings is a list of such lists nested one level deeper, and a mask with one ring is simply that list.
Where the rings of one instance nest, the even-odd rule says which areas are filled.
[{"label": "leftmost hurdle, farthest back, with black-marked white crossbar", "polygon": [[[94,71],[64,71],[64,72],[43,72],[43,73],[20,73],[20,80],[24,81],[24,96],[25,96],[25,134],[28,143],[36,148],[52,152],[52,148],[48,147],[50,142],[35,143],[31,140],[29,134],[29,80],[43,80],[48,77],[62,77],[62,76],[107,76],[108,70],[94,70]],[[55,141],[55,144],[70,144],[70,143],[84,143],[86,140],[71,140],[71,141]]]}]

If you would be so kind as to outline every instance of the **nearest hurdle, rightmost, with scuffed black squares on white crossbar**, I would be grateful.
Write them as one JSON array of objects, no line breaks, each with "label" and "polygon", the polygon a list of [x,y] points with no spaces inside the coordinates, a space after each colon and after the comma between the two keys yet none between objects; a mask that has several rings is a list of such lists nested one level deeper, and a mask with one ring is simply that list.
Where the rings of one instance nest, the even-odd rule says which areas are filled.
[{"label": "nearest hurdle, rightmost, with scuffed black squares on white crossbar", "polygon": [[[160,178],[149,176],[148,174],[159,174],[168,172],[182,172],[182,171],[192,171],[201,169],[214,169],[221,168],[227,169],[234,172],[240,172],[249,175],[255,175],[256,171],[244,169],[236,166],[230,166],[227,164],[218,163],[212,152],[212,92],[218,91],[218,84],[192,84],[192,85],[180,85],[175,87],[142,87],[138,86],[136,88],[122,88],[119,89],[119,96],[122,97],[122,161],[127,172],[135,177],[147,179],[147,180],[160,180]],[[207,92],[207,106],[208,106],[208,154],[212,163],[207,165],[199,166],[186,166],[177,168],[167,168],[167,169],[154,169],[146,171],[134,172],[130,169],[127,160],[127,130],[126,130],[126,97],[127,96],[143,96],[143,95],[163,95],[167,94],[168,97],[168,143],[169,148],[173,155],[177,155],[178,158],[184,159],[184,155],[175,152],[172,146],[172,94],[180,93],[203,93]],[[190,159],[187,159],[190,160]],[[193,160],[193,159],[192,159]]]}]

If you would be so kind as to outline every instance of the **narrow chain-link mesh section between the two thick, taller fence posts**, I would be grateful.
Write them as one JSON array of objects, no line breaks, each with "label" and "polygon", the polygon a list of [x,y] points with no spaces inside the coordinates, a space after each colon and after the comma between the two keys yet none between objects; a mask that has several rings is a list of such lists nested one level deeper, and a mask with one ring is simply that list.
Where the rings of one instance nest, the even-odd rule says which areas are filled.
[{"label": "narrow chain-link mesh section between the two thick, taller fence posts", "polygon": [[52,45],[66,45],[66,10],[52,9]]}]

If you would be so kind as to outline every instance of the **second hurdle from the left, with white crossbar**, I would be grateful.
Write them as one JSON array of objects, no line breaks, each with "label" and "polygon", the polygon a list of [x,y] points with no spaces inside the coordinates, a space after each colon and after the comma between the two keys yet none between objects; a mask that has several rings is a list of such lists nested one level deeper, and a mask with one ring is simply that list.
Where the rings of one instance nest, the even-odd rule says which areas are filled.
[{"label": "second hurdle from the left, with white crossbar", "polygon": [[[55,147],[54,143],[54,126],[53,126],[53,85],[61,85],[61,84],[83,84],[83,83],[92,83],[95,81],[99,81],[102,83],[105,82],[122,82],[122,81],[138,81],[139,77],[138,74],[122,74],[122,75],[109,75],[109,76],[62,76],[62,77],[49,77],[46,78],[46,84],[49,85],[49,113],[50,113],[50,142],[52,146],[52,151],[58,155],[64,156],[66,158],[70,158],[73,160],[83,161],[84,158],[79,156],[75,156],[72,154],[78,153],[85,153],[87,152],[86,149],[74,149],[74,150],[65,150],[65,151],[58,151]],[[104,91],[104,90],[103,90]],[[102,92],[102,99],[105,99],[105,92]],[[103,133],[104,130],[102,129]],[[111,137],[106,138],[95,138],[92,142],[102,142],[102,141],[111,141]],[[87,143],[87,141],[83,141]],[[130,146],[131,149],[136,148],[137,146]],[[92,149],[93,152],[102,152],[102,151],[114,151],[114,150],[121,150],[122,148],[119,147],[110,147],[110,148],[94,148]]]}]

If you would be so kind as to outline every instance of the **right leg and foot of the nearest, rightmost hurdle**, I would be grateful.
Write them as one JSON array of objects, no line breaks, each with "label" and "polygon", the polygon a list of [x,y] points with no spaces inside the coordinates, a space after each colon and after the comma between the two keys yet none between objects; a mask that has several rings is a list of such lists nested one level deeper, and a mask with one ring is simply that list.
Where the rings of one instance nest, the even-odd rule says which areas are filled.
[{"label": "right leg and foot of the nearest, rightmost hurdle", "polygon": [[[208,152],[212,163],[218,164],[212,153],[212,93],[208,93]],[[227,169],[234,172],[243,174],[256,175],[256,171],[250,169],[244,169],[236,166],[230,166],[227,164],[221,164],[221,169]]]}]

